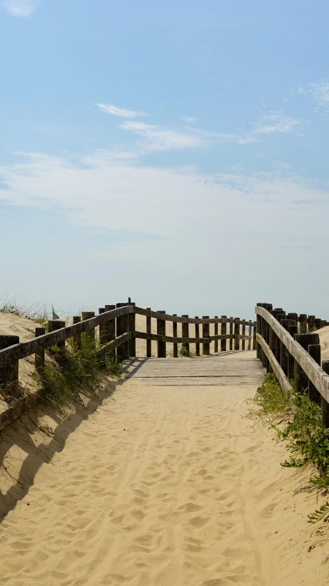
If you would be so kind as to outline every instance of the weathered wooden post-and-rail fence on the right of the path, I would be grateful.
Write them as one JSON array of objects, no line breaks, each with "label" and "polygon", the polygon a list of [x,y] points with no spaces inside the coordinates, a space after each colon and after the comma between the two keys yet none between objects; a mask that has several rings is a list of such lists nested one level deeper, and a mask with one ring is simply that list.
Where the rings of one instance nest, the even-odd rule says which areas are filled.
[{"label": "weathered wooden post-and-rail fence on the right of the path", "polygon": [[257,304],[256,316],[257,358],[276,375],[288,397],[292,380],[296,392],[308,392],[321,405],[322,422],[329,427],[329,361],[321,363],[319,335],[314,332],[328,322],[304,313],[286,314],[267,303]]}]

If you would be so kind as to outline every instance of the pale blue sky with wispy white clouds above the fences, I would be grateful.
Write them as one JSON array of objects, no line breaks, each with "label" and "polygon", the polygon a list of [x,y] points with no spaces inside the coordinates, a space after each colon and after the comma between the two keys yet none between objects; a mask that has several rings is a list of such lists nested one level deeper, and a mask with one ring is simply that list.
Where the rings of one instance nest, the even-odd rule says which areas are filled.
[{"label": "pale blue sky with wispy white clouds above the fences", "polygon": [[328,3],[0,2],[3,293],[329,319]]}]

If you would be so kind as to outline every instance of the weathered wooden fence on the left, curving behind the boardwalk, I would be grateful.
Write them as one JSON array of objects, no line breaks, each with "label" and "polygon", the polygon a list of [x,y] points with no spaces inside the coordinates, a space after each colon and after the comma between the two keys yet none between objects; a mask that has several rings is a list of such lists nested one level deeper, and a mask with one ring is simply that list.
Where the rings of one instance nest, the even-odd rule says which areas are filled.
[{"label": "weathered wooden fence on the left, curving behind the boardwalk", "polygon": [[[146,332],[136,330],[136,314],[146,317]],[[156,319],[157,333],[151,333],[151,319]],[[166,323],[172,322],[173,336],[166,335]],[[177,335],[177,324],[182,324],[182,336]],[[195,326],[195,336],[190,336],[191,324]],[[215,335],[210,336],[210,324],[215,324]],[[218,333],[221,324],[221,333]],[[202,326],[202,336],[199,335],[199,326]],[[218,352],[219,341],[221,352],[229,350],[251,350],[256,348],[256,323],[239,317],[188,317],[188,315],[168,315],[164,311],[151,311],[136,307],[130,300],[126,303],[106,305],[99,309],[99,315],[93,312],[83,312],[81,317],[73,317],[73,325],[66,326],[61,320],[48,322],[48,333],[45,328],[36,328],[35,338],[21,342],[18,336],[0,335],[0,389],[5,389],[5,395],[19,396],[19,360],[31,354],[35,356],[36,370],[42,374],[45,368],[45,350],[52,346],[64,348],[67,339],[73,339],[77,348],[81,348],[82,333],[90,332],[95,338],[95,328],[98,330],[99,352],[117,352],[117,359],[122,361],[128,357],[136,357],[136,339],[146,340],[146,354],[151,357],[151,341],[158,343],[158,357],[167,355],[167,344],[173,344],[173,357],[178,357],[178,344],[182,344],[184,351],[189,351],[189,344],[195,343],[196,355],[210,354],[210,344],[214,343],[214,351]],[[246,334],[248,328],[248,334]],[[242,331],[242,334],[241,334]],[[247,348],[246,348],[247,341]]]}]

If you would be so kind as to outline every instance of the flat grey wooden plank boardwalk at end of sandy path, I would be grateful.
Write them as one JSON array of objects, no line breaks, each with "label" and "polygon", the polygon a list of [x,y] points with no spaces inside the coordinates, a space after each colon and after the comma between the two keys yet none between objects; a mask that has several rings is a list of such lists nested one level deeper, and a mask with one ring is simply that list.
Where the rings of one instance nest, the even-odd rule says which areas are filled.
[{"label": "flat grey wooden plank boardwalk at end of sandy path", "polygon": [[256,352],[221,352],[198,358],[136,358],[125,361],[127,378],[153,386],[256,385],[264,369]]}]

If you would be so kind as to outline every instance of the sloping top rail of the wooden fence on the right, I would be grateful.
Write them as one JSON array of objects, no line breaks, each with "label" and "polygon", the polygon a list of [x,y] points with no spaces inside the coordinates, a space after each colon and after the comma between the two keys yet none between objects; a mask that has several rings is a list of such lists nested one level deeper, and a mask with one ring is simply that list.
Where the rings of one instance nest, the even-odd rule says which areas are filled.
[{"label": "sloping top rail of the wooden fence on the right", "polygon": [[304,348],[284,329],[278,320],[267,311],[264,307],[256,306],[255,312],[263,317],[267,324],[271,326],[280,341],[287,348],[291,356],[304,370],[308,379],[315,385],[321,396],[329,402],[329,375],[322,370],[321,366],[304,350]]}]

